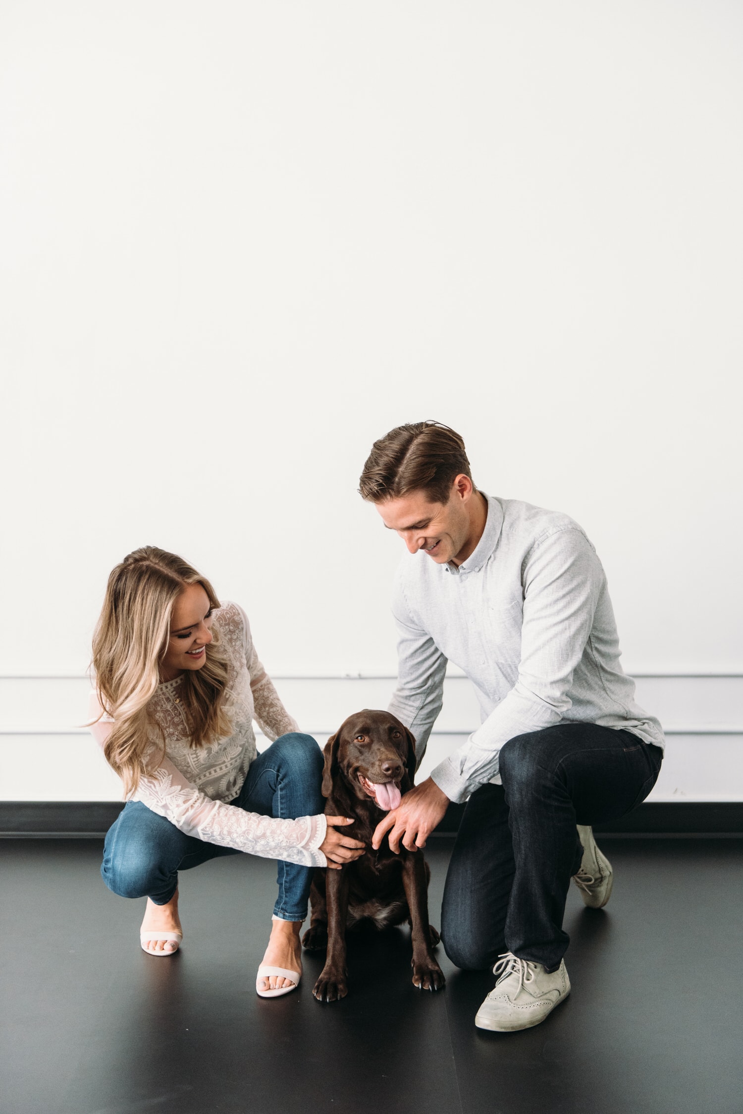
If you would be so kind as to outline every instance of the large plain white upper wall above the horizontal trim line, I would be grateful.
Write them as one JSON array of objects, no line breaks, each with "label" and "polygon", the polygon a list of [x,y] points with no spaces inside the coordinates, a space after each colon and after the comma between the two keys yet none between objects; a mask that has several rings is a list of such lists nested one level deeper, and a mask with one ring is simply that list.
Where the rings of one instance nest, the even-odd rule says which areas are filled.
[{"label": "large plain white upper wall above the horizontal trim line", "polygon": [[726,0],[7,0],[0,674],[81,674],[146,543],[274,674],[392,673],[356,486],[426,417],[584,525],[630,671],[741,672],[742,48]]}]

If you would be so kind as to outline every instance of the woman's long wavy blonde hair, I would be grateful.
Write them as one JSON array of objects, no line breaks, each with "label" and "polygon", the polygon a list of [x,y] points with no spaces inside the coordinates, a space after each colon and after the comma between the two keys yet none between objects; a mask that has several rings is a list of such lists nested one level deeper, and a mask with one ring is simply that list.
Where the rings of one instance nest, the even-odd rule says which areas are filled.
[{"label": "woman's long wavy blonde hair", "polygon": [[[148,705],[160,683],[159,664],[168,648],[174,604],[190,584],[200,584],[211,607],[219,607],[205,577],[157,546],[135,549],[108,578],[93,635],[92,668],[100,706],[113,719],[106,759],[123,781],[127,798],[165,754],[165,735]],[[227,657],[215,625],[204,665],[182,674],[179,695],[191,746],[230,734],[222,706],[226,684]],[[159,754],[157,750],[148,753],[153,743]]]}]

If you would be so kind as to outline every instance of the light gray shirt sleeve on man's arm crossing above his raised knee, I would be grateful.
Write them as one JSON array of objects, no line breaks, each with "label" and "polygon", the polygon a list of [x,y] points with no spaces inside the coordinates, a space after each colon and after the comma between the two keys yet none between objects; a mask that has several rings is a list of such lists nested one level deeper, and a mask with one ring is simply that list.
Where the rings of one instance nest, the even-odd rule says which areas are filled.
[{"label": "light gray shirt sleeve on man's arm crossing above his raised knee", "polygon": [[524,563],[518,678],[467,742],[432,773],[453,801],[498,778],[504,743],[559,723],[571,707],[573,673],[585,649],[605,575],[578,529],[538,541]]}]

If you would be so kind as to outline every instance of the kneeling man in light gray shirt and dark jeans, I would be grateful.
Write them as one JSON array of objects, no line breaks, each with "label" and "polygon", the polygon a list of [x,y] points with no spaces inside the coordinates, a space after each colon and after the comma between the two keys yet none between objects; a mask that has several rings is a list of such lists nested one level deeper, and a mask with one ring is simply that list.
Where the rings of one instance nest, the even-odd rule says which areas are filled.
[{"label": "kneeling man in light gray shirt and dark jeans", "polygon": [[650,793],[663,731],[634,702],[604,570],[571,518],[478,491],[459,434],[430,421],[375,442],[360,494],[410,555],[394,595],[399,671],[389,711],[416,736],[420,761],[452,661],[482,713],[373,843],[388,832],[393,850],[425,847],[449,801],[467,801],[442,938],[459,967],[497,958],[499,978],[475,1024],[528,1028],[569,994],[562,924],[571,877],[588,906],[611,893],[612,868],[590,825]]}]

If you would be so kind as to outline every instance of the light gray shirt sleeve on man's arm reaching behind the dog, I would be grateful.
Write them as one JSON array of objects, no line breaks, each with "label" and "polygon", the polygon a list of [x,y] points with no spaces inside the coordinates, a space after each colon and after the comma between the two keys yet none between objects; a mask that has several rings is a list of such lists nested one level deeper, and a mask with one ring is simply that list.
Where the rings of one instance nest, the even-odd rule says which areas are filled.
[{"label": "light gray shirt sleeve on man's arm reaching behind the dog", "polygon": [[395,583],[393,615],[397,627],[397,687],[387,711],[415,736],[416,763],[420,765],[430,729],[444,703],[446,657],[416,623],[399,576]]}]

